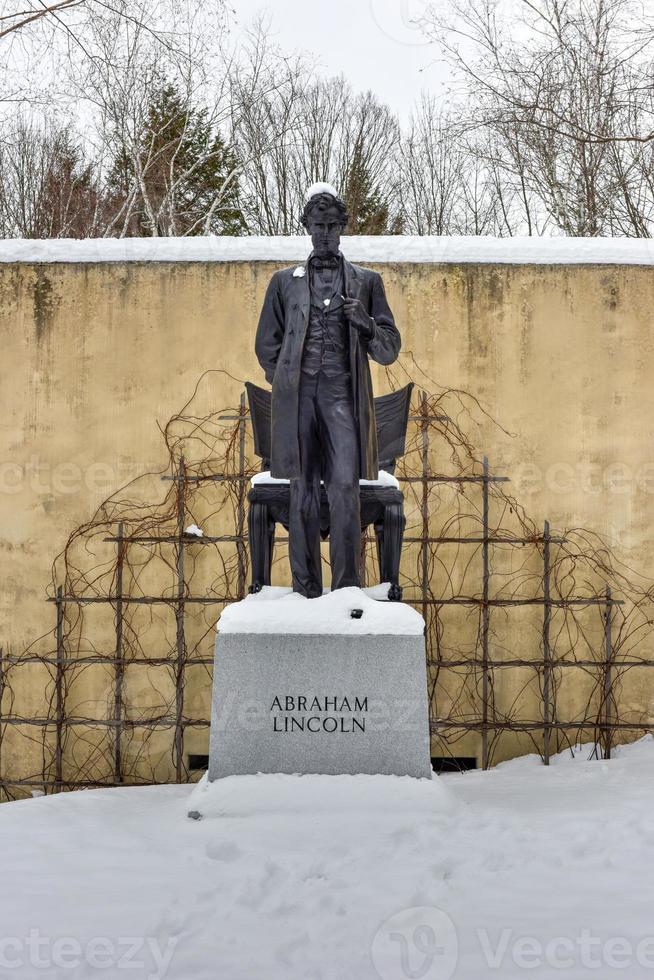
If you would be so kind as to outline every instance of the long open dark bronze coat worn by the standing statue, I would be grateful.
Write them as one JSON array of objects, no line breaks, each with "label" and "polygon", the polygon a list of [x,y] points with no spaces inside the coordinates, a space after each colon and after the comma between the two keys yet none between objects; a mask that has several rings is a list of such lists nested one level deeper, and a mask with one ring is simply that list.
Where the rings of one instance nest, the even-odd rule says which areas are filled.
[{"label": "long open dark bronze coat worn by the standing statue", "polygon": [[[304,274],[300,272],[304,270]],[[345,296],[359,299],[375,321],[368,341],[350,327],[350,370],[354,411],[359,425],[361,479],[378,473],[377,430],[368,357],[392,364],[400,351],[400,333],[377,272],[343,259]],[[298,400],[304,337],[309,323],[309,271],[294,266],[276,272],[266,292],[255,350],[266,380],[272,385],[271,475],[278,479],[300,476]]]}]

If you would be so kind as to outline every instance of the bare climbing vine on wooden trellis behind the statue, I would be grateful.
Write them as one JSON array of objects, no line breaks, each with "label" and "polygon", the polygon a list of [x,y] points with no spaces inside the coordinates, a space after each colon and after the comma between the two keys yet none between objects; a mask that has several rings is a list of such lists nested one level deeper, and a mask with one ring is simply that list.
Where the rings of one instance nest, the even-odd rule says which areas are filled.
[{"label": "bare climbing vine on wooden trellis behind the statue", "polygon": [[[396,475],[404,600],[427,623],[433,754],[491,765],[590,741],[607,755],[651,731],[654,582],[592,529],[536,525],[501,479],[511,474],[484,465],[482,423],[511,433],[474,396],[438,386],[410,354],[386,374],[391,388],[417,382]],[[162,468],[108,497],[55,558],[53,629],[0,652],[6,798],[185,781],[189,753],[206,753],[214,628],[247,591],[247,490],[259,466],[244,399],[198,406],[201,392],[234,380],[198,379],[161,429]],[[202,537],[186,533],[193,524]],[[372,583],[372,536],[363,547]],[[283,541],[273,571],[284,580]]]}]

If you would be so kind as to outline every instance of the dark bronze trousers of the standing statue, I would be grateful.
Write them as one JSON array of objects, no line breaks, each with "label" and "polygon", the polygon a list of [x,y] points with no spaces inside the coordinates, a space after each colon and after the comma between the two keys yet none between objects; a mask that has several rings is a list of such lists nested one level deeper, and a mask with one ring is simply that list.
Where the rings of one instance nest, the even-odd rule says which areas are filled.
[{"label": "dark bronze trousers of the standing statue", "polygon": [[359,431],[348,371],[301,373],[298,434],[301,475],[290,486],[289,558],[293,591],[315,598],[322,595],[321,479],[329,503],[331,587],[360,585]]}]

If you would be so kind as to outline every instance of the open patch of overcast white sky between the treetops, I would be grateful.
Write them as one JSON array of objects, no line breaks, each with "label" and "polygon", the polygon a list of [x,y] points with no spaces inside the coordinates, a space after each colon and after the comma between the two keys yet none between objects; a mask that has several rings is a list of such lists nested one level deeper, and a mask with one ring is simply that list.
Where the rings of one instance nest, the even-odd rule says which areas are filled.
[{"label": "open patch of overcast white sky between the treetops", "polygon": [[402,118],[421,89],[438,94],[449,77],[411,23],[426,0],[231,0],[230,6],[240,26],[267,11],[282,48],[312,52],[325,74],[343,72]]}]

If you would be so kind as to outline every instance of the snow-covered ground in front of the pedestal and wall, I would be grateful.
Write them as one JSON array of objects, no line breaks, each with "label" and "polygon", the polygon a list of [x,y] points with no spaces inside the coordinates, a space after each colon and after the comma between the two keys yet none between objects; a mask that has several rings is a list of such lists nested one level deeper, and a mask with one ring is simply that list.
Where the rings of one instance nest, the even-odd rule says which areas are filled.
[{"label": "snow-covered ground in front of the pedestal and wall", "polygon": [[4,804],[0,975],[654,977],[654,739],[587,754]]}]

